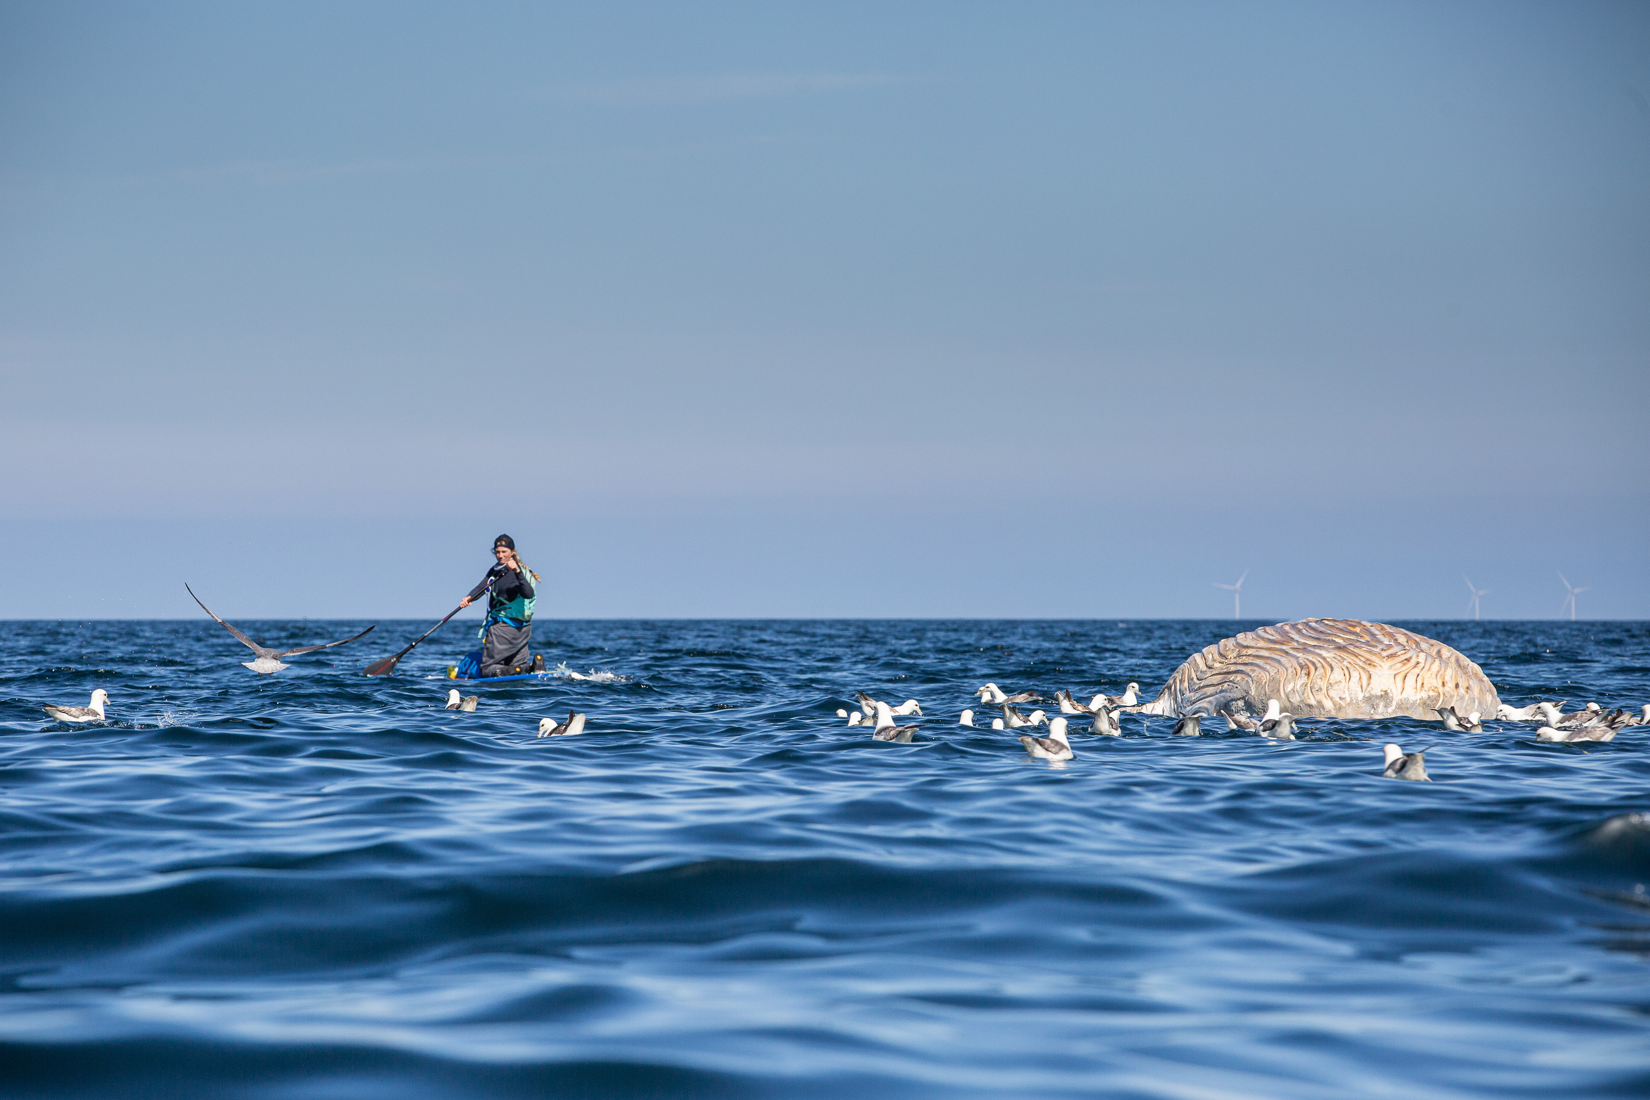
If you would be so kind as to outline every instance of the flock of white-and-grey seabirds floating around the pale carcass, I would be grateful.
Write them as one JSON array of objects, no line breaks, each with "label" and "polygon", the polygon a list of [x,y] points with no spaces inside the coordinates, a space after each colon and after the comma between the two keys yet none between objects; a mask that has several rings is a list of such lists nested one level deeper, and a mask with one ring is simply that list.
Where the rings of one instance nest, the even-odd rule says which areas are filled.
[{"label": "flock of white-and-grey seabirds floating around the pale carcass", "polygon": [[[1129,688],[1117,696],[1096,694],[1089,703],[1079,703],[1072,698],[1071,691],[1056,691],[1053,699],[1048,699],[1035,691],[1018,691],[1006,693],[995,683],[987,683],[980,686],[974,694],[980,696],[982,706],[995,706],[1002,717],[992,719],[993,731],[1030,731],[1018,734],[1020,744],[1025,747],[1026,754],[1038,760],[1071,760],[1076,752],[1071,747],[1072,717],[1071,716],[1087,716],[1091,719],[1087,732],[1120,737],[1122,726],[1117,721],[1120,712],[1135,712],[1140,709],[1140,684],[1130,683]],[[454,693],[457,694],[457,693]],[[846,707],[837,709],[837,717],[848,719],[848,726],[870,726],[871,737],[876,740],[896,740],[911,742],[921,726],[898,726],[894,717],[903,717],[908,714],[922,716],[922,704],[916,699],[906,699],[899,706],[889,706],[879,699],[873,699],[863,691],[855,693],[855,699],[860,703],[858,711],[848,711]],[[1059,706],[1059,714],[1049,717],[1046,711],[1031,711],[1030,714],[1021,714],[1016,704],[1026,703],[1056,703]],[[1534,722],[1544,721],[1536,737],[1538,740],[1610,740],[1615,734],[1629,726],[1650,726],[1650,703],[1640,707],[1638,714],[1632,714],[1625,709],[1605,711],[1597,703],[1589,703],[1581,711],[1571,714],[1561,714],[1558,707],[1564,706],[1559,703],[1531,703],[1526,707],[1511,707],[1505,703],[1500,704],[1497,711],[1497,721],[1503,722]],[[1439,717],[1444,722],[1444,729],[1457,732],[1483,732],[1483,717],[1473,711],[1467,716],[1455,712],[1455,707],[1439,707]],[[1203,722],[1209,717],[1219,717],[1226,722],[1229,732],[1246,732],[1259,734],[1261,737],[1270,737],[1274,740],[1295,740],[1295,716],[1282,709],[1277,699],[1267,699],[1266,714],[1261,717],[1249,717],[1242,712],[1234,712],[1231,709],[1223,709],[1213,716],[1208,714],[1183,714],[1175,722],[1173,732],[1181,737],[1198,737],[1203,734]],[[957,716],[959,726],[974,727],[975,712],[965,709]],[[549,721],[549,719],[546,719]],[[1036,727],[1048,726],[1048,736],[1038,736]],[[1427,775],[1426,754],[1431,750],[1417,749],[1414,752],[1404,752],[1401,745],[1386,744],[1381,752],[1386,764],[1381,770],[1384,778],[1402,778],[1412,782],[1432,782]]]}]

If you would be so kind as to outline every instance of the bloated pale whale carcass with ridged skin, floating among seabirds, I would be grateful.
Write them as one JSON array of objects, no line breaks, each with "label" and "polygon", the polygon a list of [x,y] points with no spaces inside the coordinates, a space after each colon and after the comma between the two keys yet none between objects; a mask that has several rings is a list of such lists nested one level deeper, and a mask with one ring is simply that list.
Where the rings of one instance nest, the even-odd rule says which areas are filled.
[{"label": "bloated pale whale carcass with ridged skin, floating among seabirds", "polygon": [[1432,638],[1356,618],[1304,618],[1246,630],[1195,653],[1142,714],[1259,714],[1277,699],[1295,717],[1439,721],[1437,709],[1495,714],[1483,670]]}]

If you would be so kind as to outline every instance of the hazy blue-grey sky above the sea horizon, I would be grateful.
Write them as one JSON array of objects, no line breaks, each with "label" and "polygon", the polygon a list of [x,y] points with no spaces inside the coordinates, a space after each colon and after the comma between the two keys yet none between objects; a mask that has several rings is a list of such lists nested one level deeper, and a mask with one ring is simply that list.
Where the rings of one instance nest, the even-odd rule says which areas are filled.
[{"label": "hazy blue-grey sky above the sea horizon", "polygon": [[0,617],[1650,618],[1650,7],[0,0]]}]

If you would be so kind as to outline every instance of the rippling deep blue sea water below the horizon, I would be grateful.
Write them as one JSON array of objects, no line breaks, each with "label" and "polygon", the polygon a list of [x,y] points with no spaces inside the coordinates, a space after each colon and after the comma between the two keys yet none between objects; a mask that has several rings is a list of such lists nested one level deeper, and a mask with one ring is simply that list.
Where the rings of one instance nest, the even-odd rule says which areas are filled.
[{"label": "rippling deep blue sea water below the horizon", "polygon": [[[1127,716],[1051,767],[969,693],[1150,696],[1234,623],[540,620],[606,675],[474,714],[462,625],[360,675],[426,625],[256,676],[208,620],[0,623],[0,1093],[1650,1095],[1650,732]],[[1650,701],[1647,623],[1401,625]]]}]

